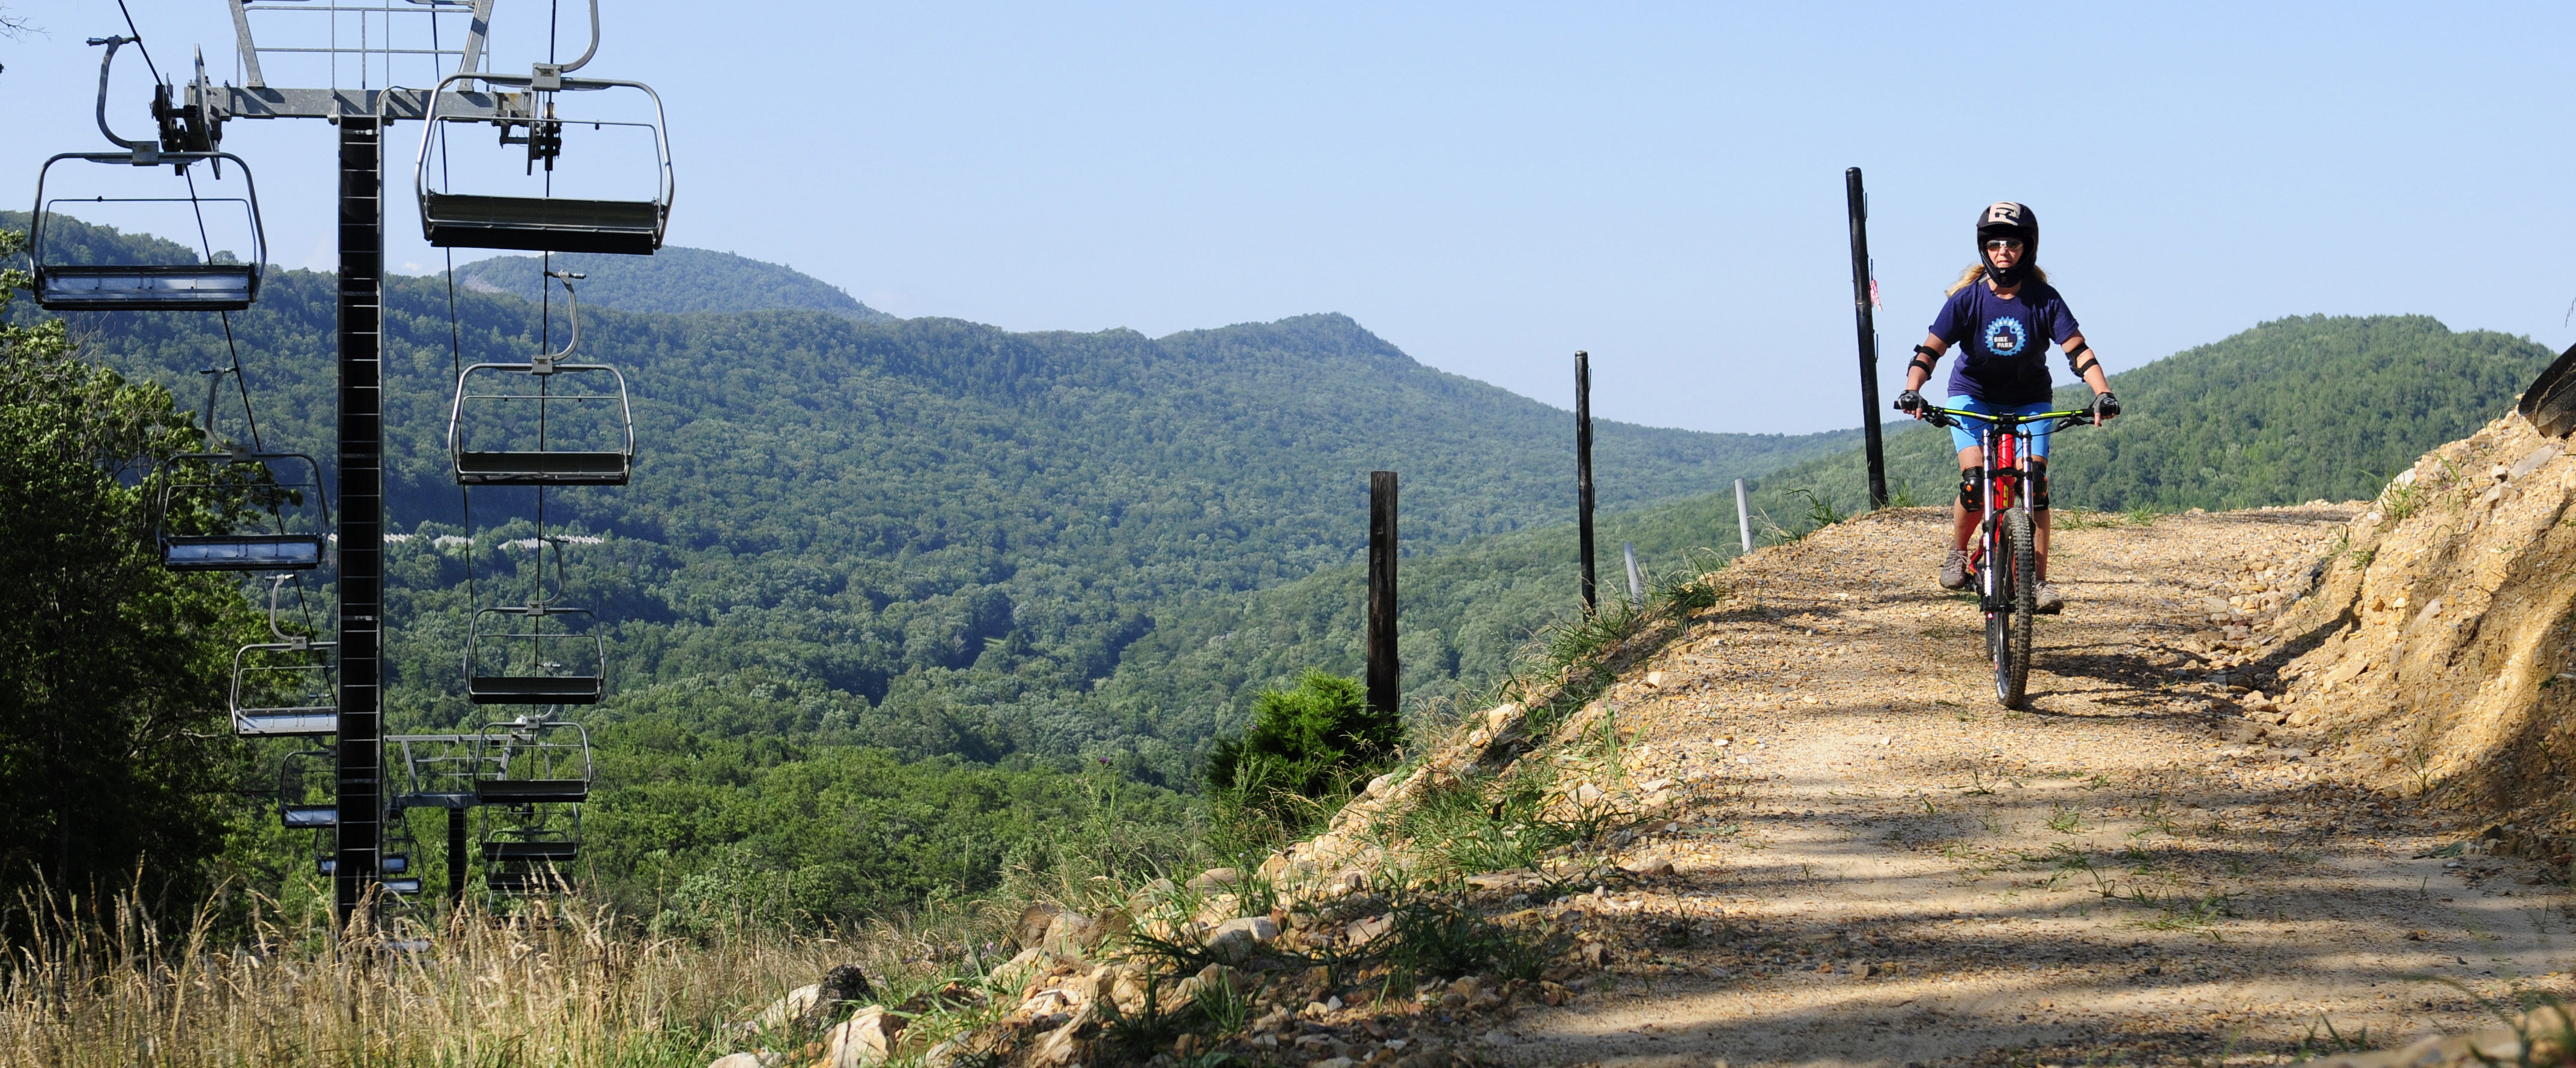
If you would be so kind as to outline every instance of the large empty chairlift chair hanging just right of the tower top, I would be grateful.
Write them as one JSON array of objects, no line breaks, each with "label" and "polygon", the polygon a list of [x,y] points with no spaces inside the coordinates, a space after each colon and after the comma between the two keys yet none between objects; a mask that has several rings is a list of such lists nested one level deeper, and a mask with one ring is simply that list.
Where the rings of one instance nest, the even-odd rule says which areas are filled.
[{"label": "large empty chairlift chair hanging just right of the tower top", "polygon": [[[526,252],[621,252],[652,255],[662,247],[662,229],[670,224],[672,172],[670,136],[662,113],[662,95],[644,82],[605,77],[564,77],[600,49],[598,3],[590,8],[590,51],[569,64],[533,64],[528,75],[456,72],[430,93],[428,121],[420,124],[420,157],[412,170],[412,193],[420,198],[420,232],[433,247],[526,250]],[[451,85],[477,82],[479,93],[448,93]],[[652,118],[582,118],[562,113],[567,95],[580,93],[641,93],[652,100]],[[484,116],[440,113],[451,103],[489,106]],[[500,129],[497,147],[523,147],[523,175],[546,170],[538,196],[459,193],[448,188],[453,162],[451,126],[492,124]],[[654,152],[652,198],[574,198],[554,196],[556,160],[564,154],[567,129],[592,131],[647,131]],[[430,147],[438,144],[438,167],[430,167]],[[497,162],[497,160],[492,160]]]}]

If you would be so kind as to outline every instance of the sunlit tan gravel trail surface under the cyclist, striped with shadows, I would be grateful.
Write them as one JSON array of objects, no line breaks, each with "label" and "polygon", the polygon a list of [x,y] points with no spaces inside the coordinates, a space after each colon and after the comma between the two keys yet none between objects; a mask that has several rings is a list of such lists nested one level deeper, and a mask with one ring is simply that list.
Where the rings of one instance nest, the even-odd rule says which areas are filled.
[{"label": "sunlit tan gravel trail surface under the cyclist, striped with shadows", "polygon": [[2303,592],[2352,512],[2058,530],[2071,605],[2040,620],[2022,713],[1994,703],[1976,605],[1932,584],[1945,515],[1739,561],[1736,597],[1610,692],[1633,780],[1734,800],[1636,842],[1674,875],[1553,906],[1618,932],[1610,988],[1481,1053],[2269,1063],[2311,1032],[2331,1050],[2326,1024],[2393,1045],[2488,1022],[2470,991],[2568,993],[2537,865],[2419,857],[2463,831],[2352,785],[2334,739],[2249,739],[2303,649],[2228,597]]}]

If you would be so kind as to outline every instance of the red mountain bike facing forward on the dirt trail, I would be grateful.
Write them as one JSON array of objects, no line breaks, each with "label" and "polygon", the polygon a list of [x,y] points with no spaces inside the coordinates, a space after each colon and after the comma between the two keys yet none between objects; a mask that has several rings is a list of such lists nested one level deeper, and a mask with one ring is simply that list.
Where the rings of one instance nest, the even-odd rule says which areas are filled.
[{"label": "red mountain bike facing forward on the dirt trail", "polygon": [[[1986,612],[1986,659],[1994,661],[1994,697],[2004,708],[2022,708],[2030,690],[2030,623],[2040,615],[2040,546],[2038,522],[2022,486],[2030,484],[2032,425],[2056,422],[2056,430],[2089,427],[2092,409],[2079,412],[1968,412],[1924,404],[1924,422],[1955,427],[1958,419],[1978,419],[1978,443],[1986,448],[1984,481],[1986,517],[1976,525],[1968,548],[1968,582],[1976,587],[1978,607]],[[1986,561],[1996,561],[1986,566]]]}]

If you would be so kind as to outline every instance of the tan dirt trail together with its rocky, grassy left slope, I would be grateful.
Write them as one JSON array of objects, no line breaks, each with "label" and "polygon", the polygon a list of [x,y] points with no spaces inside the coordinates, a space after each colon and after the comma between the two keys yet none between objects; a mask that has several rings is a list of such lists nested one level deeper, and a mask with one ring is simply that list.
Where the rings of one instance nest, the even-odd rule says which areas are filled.
[{"label": "tan dirt trail together with its rocky, grassy left slope", "polygon": [[[2499,540],[2571,479],[2512,481],[2543,507]],[[1829,525],[1528,664],[1525,705],[1466,715],[1327,834],[1033,908],[971,1011],[817,1032],[1002,1065],[2190,1065],[2563,999],[2550,867],[2264,692],[2339,610],[2344,579],[2290,602],[2357,510],[2066,530],[2074,607],[2040,625],[2027,710],[1994,703],[1976,607],[1914,566],[1937,510]],[[1185,1027],[1123,1027],[1146,991]]]}]

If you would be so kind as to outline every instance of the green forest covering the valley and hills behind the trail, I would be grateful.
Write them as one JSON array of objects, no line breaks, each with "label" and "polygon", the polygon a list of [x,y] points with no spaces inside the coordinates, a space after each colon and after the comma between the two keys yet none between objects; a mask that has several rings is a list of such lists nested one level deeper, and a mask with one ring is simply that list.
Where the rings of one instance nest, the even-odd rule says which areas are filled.
[{"label": "green forest covering the valley and hills behind the trail", "polygon": [[[330,296],[327,275],[276,273],[232,322],[270,445],[327,453]],[[456,301],[451,353],[446,286],[389,288],[397,728],[484,715],[456,692],[464,618],[531,579],[505,546],[533,533],[523,492],[477,492],[474,546],[453,538],[440,432],[453,360],[523,358],[562,322],[515,296]],[[111,365],[193,386],[224,353],[201,319],[77,327]],[[1149,340],[595,309],[582,353],[626,371],[644,440],[634,486],[549,494],[556,530],[603,538],[569,556],[574,594],[616,620],[616,695],[582,715],[603,746],[590,878],[636,906],[757,883],[855,916],[992,885],[1025,862],[997,842],[1038,826],[1175,826],[1151,782],[1185,787],[1257,690],[1358,669],[1370,468],[1404,474],[1409,703],[1484,695],[1574,602],[1566,412],[1422,368],[1345,317]],[[2545,360],[2432,319],[2272,322],[2117,376],[2133,417],[2063,437],[2058,499],[2367,494]],[[237,412],[219,422],[242,435]],[[1659,571],[1723,561],[1734,476],[1783,525],[1803,512],[1788,489],[1850,510],[1855,440],[1605,422],[1605,556],[1633,540]],[[1906,427],[1891,458],[1919,499],[1947,497],[1940,435]]]}]

